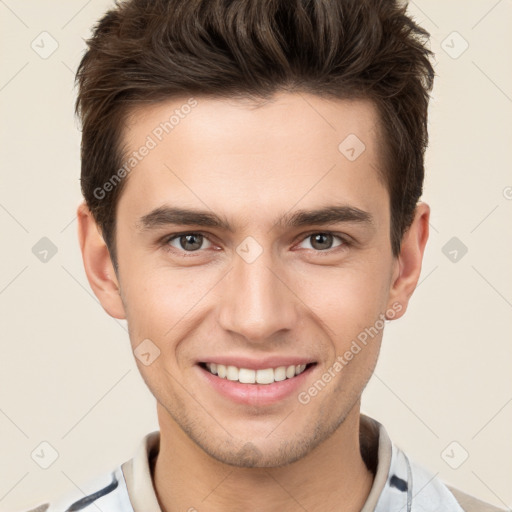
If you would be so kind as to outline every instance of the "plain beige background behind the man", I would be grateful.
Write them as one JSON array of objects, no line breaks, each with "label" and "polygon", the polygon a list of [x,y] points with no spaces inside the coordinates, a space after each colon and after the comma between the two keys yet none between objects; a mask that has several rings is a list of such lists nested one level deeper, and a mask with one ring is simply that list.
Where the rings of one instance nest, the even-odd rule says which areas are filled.
[{"label": "plain beige background behind the man", "polygon": [[[110,5],[0,0],[0,511],[80,487],[157,428],[126,326],[90,291],[76,237],[74,70]],[[409,8],[437,56],[431,239],[408,314],[386,330],[363,412],[446,482],[510,508],[512,2]],[[52,39],[47,58],[31,47],[49,52]],[[42,237],[58,250],[46,263],[32,252]],[[449,257],[442,250],[452,237],[468,249],[456,262],[453,247]],[[59,454],[48,469],[31,458],[43,441]]]}]

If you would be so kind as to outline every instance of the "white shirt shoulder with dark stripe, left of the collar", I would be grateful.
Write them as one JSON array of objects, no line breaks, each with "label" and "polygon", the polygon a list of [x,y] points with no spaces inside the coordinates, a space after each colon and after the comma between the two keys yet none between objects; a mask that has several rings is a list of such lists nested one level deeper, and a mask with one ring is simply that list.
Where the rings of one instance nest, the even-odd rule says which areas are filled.
[{"label": "white shirt shoulder with dark stripe, left of the collar", "polygon": [[81,485],[80,490],[73,490],[54,502],[39,505],[25,512],[65,512],[70,510],[133,512],[121,466]]}]

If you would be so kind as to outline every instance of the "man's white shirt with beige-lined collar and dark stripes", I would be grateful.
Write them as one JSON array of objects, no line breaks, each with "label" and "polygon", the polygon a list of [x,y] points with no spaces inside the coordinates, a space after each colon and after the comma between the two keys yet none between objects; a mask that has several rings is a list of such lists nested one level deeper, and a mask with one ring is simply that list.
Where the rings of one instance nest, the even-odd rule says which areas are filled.
[{"label": "man's white shirt with beige-lined collar and dark stripes", "polygon": [[[449,489],[392,443],[379,422],[364,414],[361,414],[360,437],[363,459],[375,475],[361,512],[500,510],[456,489]],[[27,512],[162,512],[150,470],[150,459],[158,454],[159,443],[160,432],[151,432],[143,438],[132,459],[81,486],[82,493],[74,491],[58,502],[40,505]],[[372,468],[372,464],[375,467]],[[464,502],[465,508],[452,491],[460,503]]]}]

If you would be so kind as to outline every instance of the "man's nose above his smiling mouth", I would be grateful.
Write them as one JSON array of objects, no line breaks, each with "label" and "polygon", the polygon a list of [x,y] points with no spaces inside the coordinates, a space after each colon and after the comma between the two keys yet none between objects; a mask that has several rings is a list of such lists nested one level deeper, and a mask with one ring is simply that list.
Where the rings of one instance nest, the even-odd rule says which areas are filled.
[{"label": "man's nose above his smiling mouth", "polygon": [[219,324],[247,341],[268,341],[296,326],[299,299],[265,252],[254,262],[236,257],[224,279]]}]

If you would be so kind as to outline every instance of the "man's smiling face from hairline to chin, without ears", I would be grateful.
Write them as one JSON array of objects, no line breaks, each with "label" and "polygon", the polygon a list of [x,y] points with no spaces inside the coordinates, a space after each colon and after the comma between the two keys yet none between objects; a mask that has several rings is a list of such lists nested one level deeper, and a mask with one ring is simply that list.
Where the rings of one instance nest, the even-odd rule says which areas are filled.
[{"label": "man's smiling face from hairline to chin, without ears", "polygon": [[[144,107],[125,131],[128,153],[148,135],[157,143],[116,212],[131,343],[150,340],[148,361],[160,351],[138,365],[161,420],[220,461],[282,465],[358,404],[392,308],[397,260],[377,114],[369,102],[299,94],[256,109],[196,100],[167,134],[157,127],[186,100]],[[244,370],[222,379],[206,363]],[[281,380],[293,365],[307,366]]]}]

